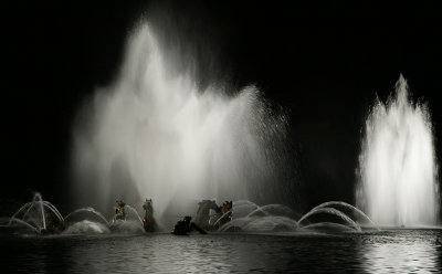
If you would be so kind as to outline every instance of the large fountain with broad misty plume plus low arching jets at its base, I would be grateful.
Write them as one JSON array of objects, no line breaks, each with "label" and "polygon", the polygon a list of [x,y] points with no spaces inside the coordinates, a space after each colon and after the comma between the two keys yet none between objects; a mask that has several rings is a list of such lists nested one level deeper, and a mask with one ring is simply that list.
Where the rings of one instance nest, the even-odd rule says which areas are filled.
[{"label": "large fountain with broad misty plume plus low arching jets at its base", "polygon": [[[201,87],[192,67],[176,65],[170,57],[176,52],[169,51],[173,49],[161,46],[148,23],[140,24],[128,41],[116,81],[97,89],[81,112],[73,149],[77,200],[108,210],[115,198],[134,201],[149,196],[160,221],[162,215],[188,215],[201,197],[229,200],[217,219],[206,218],[210,209],[203,220],[197,219],[218,231],[293,232],[308,225],[361,231],[346,210],[372,225],[362,211],[344,202],[323,203],[301,217],[283,204],[239,200],[260,202],[264,194],[272,196],[284,166],[285,117],[272,113],[254,86],[234,95],[228,95],[232,93],[224,83]],[[232,205],[233,199],[238,201]],[[31,219],[30,210],[35,212]],[[36,194],[11,220],[45,231],[50,213],[66,233],[144,232],[136,209],[118,205],[116,212],[112,223],[92,208],[63,220]],[[318,215],[335,219],[315,223]]]}]

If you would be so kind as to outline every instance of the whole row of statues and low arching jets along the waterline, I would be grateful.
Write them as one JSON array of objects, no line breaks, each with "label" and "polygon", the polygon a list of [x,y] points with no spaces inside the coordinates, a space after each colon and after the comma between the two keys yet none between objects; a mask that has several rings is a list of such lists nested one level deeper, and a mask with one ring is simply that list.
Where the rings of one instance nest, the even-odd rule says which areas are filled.
[{"label": "whole row of statues and low arching jets along the waterline", "polygon": [[[146,199],[141,218],[137,210],[123,200],[117,200],[114,218],[106,218],[93,208],[77,209],[66,217],[40,193],[32,201],[22,205],[15,213],[0,224],[0,232],[39,233],[39,234],[77,234],[77,233],[139,233],[156,232],[158,224],[154,214],[152,199]],[[296,221],[297,220],[297,221]],[[378,229],[377,225],[358,208],[340,201],[324,202],[304,215],[296,217],[283,204],[260,207],[248,200],[217,204],[214,200],[202,200],[198,203],[194,218],[186,215],[171,228],[176,235],[188,235],[191,232],[202,234],[218,232],[294,232],[296,230],[319,231],[356,231],[365,228]]]}]

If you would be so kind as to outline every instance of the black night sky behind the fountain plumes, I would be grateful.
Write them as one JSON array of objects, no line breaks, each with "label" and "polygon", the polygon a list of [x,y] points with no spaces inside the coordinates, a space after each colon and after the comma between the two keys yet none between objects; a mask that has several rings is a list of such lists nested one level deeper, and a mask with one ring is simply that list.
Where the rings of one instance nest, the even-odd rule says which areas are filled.
[{"label": "black night sky behind the fountain plumes", "polygon": [[141,13],[166,41],[187,44],[202,84],[254,83],[287,113],[287,146],[307,207],[354,203],[365,118],[399,73],[412,97],[429,104],[441,158],[442,24],[431,4],[21,2],[2,13],[2,198],[24,200],[38,190],[70,209],[72,124],[94,88],[113,80]]}]

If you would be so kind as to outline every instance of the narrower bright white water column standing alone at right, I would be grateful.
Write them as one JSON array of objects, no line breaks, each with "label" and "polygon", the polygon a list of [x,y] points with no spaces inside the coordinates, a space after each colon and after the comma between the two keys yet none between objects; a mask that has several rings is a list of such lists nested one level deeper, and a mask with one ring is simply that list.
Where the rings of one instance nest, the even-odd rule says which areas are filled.
[{"label": "narrower bright white water column standing alone at right", "polygon": [[425,104],[414,104],[400,76],[386,104],[376,101],[367,118],[359,157],[357,205],[380,225],[438,222],[438,166]]}]

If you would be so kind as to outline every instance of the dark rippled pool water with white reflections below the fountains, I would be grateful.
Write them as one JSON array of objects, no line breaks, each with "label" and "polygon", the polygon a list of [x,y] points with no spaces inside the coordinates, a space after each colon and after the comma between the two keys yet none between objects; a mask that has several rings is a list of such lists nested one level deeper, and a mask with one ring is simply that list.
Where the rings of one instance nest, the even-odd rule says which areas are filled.
[{"label": "dark rippled pool water with white reflections below the fountains", "polygon": [[[0,236],[4,273],[431,272],[440,230],[312,234]],[[4,250],[3,250],[4,251]],[[6,263],[4,263],[6,262]]]}]

